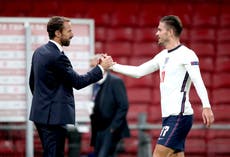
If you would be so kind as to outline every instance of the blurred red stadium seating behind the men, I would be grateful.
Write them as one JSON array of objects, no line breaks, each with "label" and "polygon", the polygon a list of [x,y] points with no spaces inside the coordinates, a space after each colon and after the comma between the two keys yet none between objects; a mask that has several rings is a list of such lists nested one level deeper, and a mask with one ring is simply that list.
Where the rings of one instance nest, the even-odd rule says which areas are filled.
[{"label": "blurred red stadium seating behind the men", "polygon": [[[192,88],[195,126],[186,143],[187,157],[230,157],[230,1],[229,0],[0,0],[0,17],[50,17],[53,15],[95,20],[95,53],[106,52],[123,64],[138,65],[160,47],[154,38],[159,19],[178,15],[184,32],[181,42],[197,52],[202,76],[215,114],[215,126],[202,127],[200,100]],[[128,121],[132,136],[122,141],[118,157],[137,157],[138,115],[146,114],[144,132],[154,146],[161,124],[157,74],[141,79],[120,75],[129,96]],[[1,123],[1,126],[9,125]],[[16,124],[23,126],[23,124]],[[146,125],[148,126],[148,125]],[[154,127],[155,126],[155,127]],[[4,127],[1,127],[4,128]],[[0,130],[0,156],[25,156],[24,127]],[[90,133],[81,134],[80,156],[90,156]],[[67,141],[66,154],[69,143]],[[42,149],[34,132],[34,154]],[[143,157],[143,156],[142,156]]]}]

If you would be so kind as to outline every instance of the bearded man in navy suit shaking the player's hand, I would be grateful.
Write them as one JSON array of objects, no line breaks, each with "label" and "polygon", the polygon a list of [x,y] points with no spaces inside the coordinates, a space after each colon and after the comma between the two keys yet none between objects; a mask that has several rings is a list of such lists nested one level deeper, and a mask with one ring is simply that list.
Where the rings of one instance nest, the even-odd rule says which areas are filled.
[{"label": "bearded man in navy suit shaking the player's hand", "polygon": [[73,88],[81,89],[100,80],[112,58],[104,55],[98,66],[79,75],[62,49],[70,45],[73,37],[70,20],[52,17],[47,32],[50,41],[37,48],[32,57],[29,84],[33,99],[29,118],[37,128],[43,157],[64,157],[65,125],[75,124]]}]

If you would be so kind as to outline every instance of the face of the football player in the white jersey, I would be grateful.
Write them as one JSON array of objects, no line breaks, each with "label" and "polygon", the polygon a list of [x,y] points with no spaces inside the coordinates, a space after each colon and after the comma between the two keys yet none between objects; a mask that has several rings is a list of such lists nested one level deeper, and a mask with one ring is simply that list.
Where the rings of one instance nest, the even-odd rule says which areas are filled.
[{"label": "face of the football player in the white jersey", "polygon": [[157,28],[156,37],[158,39],[158,44],[165,46],[169,42],[170,31],[166,27],[164,22],[160,22]]}]

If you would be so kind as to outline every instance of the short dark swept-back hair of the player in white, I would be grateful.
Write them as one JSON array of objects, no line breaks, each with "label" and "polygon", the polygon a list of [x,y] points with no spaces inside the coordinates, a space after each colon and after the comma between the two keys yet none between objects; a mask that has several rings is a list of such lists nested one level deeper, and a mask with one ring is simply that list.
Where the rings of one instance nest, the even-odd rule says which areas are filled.
[{"label": "short dark swept-back hair of the player in white", "polygon": [[175,15],[168,15],[161,18],[160,22],[164,22],[169,28],[174,30],[175,36],[179,37],[182,30],[183,25],[178,16]]}]

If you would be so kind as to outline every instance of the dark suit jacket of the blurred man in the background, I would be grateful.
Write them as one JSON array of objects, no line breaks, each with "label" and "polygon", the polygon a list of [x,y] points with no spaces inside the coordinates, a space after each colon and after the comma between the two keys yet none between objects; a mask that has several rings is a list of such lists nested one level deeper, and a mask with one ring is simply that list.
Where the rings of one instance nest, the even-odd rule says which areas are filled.
[{"label": "dark suit jacket of the blurred man in the background", "polygon": [[114,135],[117,138],[129,137],[127,112],[128,97],[124,82],[119,77],[108,73],[95,98],[91,115],[91,145],[95,145],[96,132],[108,128],[114,130]]}]

